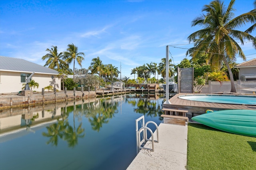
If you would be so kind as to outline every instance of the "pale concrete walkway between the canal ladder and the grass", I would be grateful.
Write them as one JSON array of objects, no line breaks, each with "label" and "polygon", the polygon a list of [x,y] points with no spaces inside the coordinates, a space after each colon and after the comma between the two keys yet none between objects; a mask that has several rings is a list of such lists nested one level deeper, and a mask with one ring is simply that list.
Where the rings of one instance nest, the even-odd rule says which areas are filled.
[{"label": "pale concrete walkway between the canal ladder and the grass", "polygon": [[[154,143],[154,152],[140,150],[127,170],[186,170],[188,124],[185,126],[160,123],[159,143]],[[156,139],[156,131],[154,132]],[[145,147],[150,148],[151,142]]]}]

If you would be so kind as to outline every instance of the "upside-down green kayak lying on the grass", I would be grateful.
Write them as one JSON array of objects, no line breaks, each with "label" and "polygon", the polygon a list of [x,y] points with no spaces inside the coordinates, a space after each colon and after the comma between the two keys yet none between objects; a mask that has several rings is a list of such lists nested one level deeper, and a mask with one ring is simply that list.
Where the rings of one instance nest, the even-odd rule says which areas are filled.
[{"label": "upside-down green kayak lying on the grass", "polygon": [[192,117],[222,131],[256,137],[256,110],[220,110]]}]

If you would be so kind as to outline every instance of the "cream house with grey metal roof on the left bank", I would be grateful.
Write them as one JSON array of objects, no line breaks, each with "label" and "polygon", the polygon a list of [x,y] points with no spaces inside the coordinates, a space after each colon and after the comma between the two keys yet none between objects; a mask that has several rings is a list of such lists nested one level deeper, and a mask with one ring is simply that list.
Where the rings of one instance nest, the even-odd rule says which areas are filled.
[{"label": "cream house with grey metal roof on the left bank", "polygon": [[33,91],[41,92],[46,86],[61,88],[58,71],[35,64],[24,59],[0,56],[0,94],[19,92],[33,72],[32,80],[39,84]]}]

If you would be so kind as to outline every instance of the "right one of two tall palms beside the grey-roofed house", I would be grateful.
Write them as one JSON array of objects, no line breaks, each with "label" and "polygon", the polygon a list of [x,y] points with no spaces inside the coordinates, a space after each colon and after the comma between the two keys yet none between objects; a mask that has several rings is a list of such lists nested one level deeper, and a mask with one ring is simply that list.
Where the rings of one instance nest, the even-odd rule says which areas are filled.
[{"label": "right one of two tall palms beside the grey-roofed house", "polygon": [[[74,61],[73,73],[75,72],[75,61],[82,67],[82,60],[84,60],[84,53],[78,53],[78,47],[76,47],[73,43],[68,45],[67,51],[64,52],[66,62],[70,64]],[[75,74],[73,76],[75,78]]]}]

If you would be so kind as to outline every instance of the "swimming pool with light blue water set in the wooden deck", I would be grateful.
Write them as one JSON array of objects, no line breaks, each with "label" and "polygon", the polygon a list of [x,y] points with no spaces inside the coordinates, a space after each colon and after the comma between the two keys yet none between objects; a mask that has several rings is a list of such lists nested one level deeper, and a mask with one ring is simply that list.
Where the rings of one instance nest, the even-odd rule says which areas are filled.
[{"label": "swimming pool with light blue water set in the wooden deck", "polygon": [[256,96],[223,95],[223,94],[188,94],[178,98],[197,102],[211,102],[222,104],[256,105]]}]

